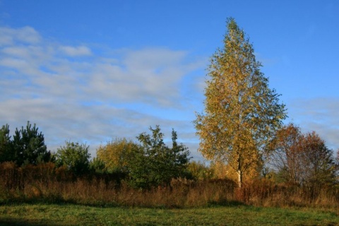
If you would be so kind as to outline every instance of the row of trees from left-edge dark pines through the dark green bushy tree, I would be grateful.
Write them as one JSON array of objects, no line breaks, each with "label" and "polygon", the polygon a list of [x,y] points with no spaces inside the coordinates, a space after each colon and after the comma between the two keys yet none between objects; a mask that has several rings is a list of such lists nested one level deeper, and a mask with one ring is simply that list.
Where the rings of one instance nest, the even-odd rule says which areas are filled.
[{"label": "row of trees from left-edge dark pines through the dark green bushy tree", "polygon": [[0,129],[0,162],[15,162],[18,167],[54,162],[57,167],[66,167],[75,177],[86,174],[123,175],[133,187],[149,189],[152,186],[169,184],[172,178],[186,177],[189,150],[177,143],[177,132],[172,131],[172,148],[169,148],[160,131],[150,127],[151,134],[141,133],[139,143],[116,139],[101,145],[97,157],[90,160],[89,146],[66,141],[57,152],[47,151],[42,132],[28,124],[11,139],[8,124]]}]

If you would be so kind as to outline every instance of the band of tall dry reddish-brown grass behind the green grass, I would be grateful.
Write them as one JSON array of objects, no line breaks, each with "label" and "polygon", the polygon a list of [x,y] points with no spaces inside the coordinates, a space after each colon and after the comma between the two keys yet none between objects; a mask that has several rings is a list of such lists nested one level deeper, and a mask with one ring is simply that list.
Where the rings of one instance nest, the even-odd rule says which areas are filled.
[{"label": "band of tall dry reddish-brown grass behind the green grass", "polygon": [[[170,186],[150,190],[132,189],[114,178],[73,177],[52,163],[18,168],[0,164],[0,202],[43,201],[93,206],[202,207],[244,203],[253,206],[305,206],[339,208],[339,189],[323,188],[316,196],[295,185],[275,184],[266,179],[246,182],[242,189],[230,179],[193,181],[172,179]],[[119,185],[119,186],[118,186]]]}]

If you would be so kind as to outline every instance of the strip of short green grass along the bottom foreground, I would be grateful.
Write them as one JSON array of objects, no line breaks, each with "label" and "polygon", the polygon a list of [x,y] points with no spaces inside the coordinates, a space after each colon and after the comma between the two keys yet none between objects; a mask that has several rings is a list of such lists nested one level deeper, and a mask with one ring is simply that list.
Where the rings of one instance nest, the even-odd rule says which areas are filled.
[{"label": "strip of short green grass along the bottom foreground", "polygon": [[331,211],[310,208],[121,208],[71,204],[0,206],[0,225],[339,225]]}]

